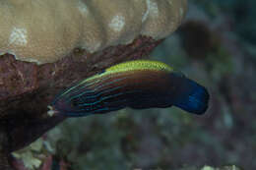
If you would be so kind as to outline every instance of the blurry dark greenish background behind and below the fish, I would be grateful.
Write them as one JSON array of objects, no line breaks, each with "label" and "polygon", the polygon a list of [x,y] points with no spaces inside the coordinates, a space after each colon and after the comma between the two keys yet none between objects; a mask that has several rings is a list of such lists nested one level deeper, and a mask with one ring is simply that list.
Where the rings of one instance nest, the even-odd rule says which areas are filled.
[{"label": "blurry dark greenish background behind and below the fish", "polygon": [[50,132],[72,169],[256,169],[256,1],[189,0],[183,25],[152,59],[205,85],[210,108],[132,110],[70,119]]}]

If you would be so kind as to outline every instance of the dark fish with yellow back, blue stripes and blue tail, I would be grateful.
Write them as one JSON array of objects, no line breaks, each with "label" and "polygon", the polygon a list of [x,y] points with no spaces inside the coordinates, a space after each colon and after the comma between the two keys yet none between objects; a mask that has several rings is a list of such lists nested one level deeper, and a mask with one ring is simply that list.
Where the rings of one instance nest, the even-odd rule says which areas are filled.
[{"label": "dark fish with yellow back, blue stripes and blue tail", "polygon": [[172,67],[153,60],[133,60],[109,67],[72,85],[50,104],[67,117],[132,109],[175,106],[202,115],[208,108],[206,87]]}]

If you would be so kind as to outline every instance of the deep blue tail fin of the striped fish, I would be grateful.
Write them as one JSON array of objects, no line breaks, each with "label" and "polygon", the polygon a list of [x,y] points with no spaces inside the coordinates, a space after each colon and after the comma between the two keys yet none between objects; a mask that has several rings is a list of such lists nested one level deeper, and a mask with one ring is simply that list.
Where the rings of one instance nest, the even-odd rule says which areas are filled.
[{"label": "deep blue tail fin of the striped fish", "polygon": [[176,107],[199,115],[206,112],[210,96],[204,86],[186,79],[180,86],[178,95],[173,103]]}]

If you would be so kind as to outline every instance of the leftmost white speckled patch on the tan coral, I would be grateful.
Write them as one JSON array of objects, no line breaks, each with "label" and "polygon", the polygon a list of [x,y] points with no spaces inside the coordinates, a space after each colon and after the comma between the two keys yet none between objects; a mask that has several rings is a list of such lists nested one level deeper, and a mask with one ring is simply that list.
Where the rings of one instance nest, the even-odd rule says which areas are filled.
[{"label": "leftmost white speckled patch on the tan coral", "polygon": [[9,37],[9,43],[25,46],[28,43],[27,37],[28,31],[26,28],[13,28]]}]

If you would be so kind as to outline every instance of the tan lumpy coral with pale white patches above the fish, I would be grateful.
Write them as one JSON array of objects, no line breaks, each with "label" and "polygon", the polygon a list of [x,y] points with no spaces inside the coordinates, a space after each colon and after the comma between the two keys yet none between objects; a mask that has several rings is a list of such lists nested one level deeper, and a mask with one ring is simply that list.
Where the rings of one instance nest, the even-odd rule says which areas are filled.
[{"label": "tan lumpy coral with pale white patches above the fish", "polygon": [[2,0],[0,55],[37,64],[75,48],[93,53],[138,35],[158,40],[174,31],[186,0]]}]

